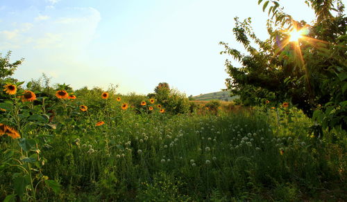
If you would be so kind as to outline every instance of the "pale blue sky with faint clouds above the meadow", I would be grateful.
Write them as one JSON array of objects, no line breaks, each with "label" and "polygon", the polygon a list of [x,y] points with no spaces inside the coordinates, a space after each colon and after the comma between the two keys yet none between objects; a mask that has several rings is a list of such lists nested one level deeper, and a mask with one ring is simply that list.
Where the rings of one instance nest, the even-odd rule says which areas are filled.
[{"label": "pale blue sky with faint clouds above the meadow", "polygon": [[[303,0],[280,5],[296,20],[314,19]],[[24,57],[13,75],[20,81],[45,73],[52,84],[115,84],[124,94],[152,93],[167,82],[199,95],[226,89],[231,58],[219,54],[219,42],[242,50],[234,17],[251,17],[266,39],[268,15],[257,0],[0,0],[0,53]]]}]

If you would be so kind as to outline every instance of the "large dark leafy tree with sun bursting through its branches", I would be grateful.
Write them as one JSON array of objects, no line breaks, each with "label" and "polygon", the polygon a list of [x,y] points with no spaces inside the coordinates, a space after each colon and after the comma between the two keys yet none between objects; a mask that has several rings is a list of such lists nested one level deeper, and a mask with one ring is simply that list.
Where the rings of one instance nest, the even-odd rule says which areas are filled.
[{"label": "large dark leafy tree with sun bursting through its branches", "polygon": [[[271,16],[267,22],[269,39],[264,41],[253,33],[250,18],[244,21],[235,18],[233,33],[247,55],[220,43],[225,47],[221,53],[242,64],[235,67],[226,60],[228,89],[232,95],[239,95],[244,104],[290,101],[323,127],[347,130],[344,4],[340,0],[305,1],[316,14],[310,25],[287,15],[278,2],[264,1],[262,6],[263,11],[269,7]],[[294,39],[295,33],[302,38]]]}]

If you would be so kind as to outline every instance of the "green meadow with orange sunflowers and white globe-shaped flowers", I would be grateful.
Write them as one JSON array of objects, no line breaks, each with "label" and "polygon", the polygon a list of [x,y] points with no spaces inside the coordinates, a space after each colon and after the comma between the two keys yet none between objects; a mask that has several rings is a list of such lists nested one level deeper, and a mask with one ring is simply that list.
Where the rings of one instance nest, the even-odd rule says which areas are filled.
[{"label": "green meadow with orange sunflowers and white globe-shaped flowers", "polygon": [[144,95],[19,85],[0,103],[0,201],[346,199],[346,136],[315,136],[289,103],[172,113]]}]

